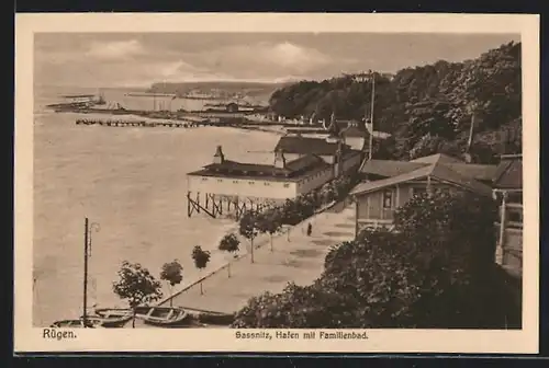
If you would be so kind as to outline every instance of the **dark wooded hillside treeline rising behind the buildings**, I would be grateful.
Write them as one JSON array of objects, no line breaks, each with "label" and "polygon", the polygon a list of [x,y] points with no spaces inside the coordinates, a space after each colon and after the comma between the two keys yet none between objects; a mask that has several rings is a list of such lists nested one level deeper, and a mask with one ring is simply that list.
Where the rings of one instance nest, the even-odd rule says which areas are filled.
[{"label": "dark wooded hillside treeline rising behind the buildings", "polygon": [[[463,62],[437,61],[393,74],[376,73],[374,127],[392,134],[378,158],[413,159],[432,153],[462,154],[493,162],[498,153],[522,151],[520,43],[508,43]],[[301,81],[277,90],[271,110],[289,118],[340,119],[370,116],[371,83],[343,76]],[[472,123],[473,122],[473,123]]]}]

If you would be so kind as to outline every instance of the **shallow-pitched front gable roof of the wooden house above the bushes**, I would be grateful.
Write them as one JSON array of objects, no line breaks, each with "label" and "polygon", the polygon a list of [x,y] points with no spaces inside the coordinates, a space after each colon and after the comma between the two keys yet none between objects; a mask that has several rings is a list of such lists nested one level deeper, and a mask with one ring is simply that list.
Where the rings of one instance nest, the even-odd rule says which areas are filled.
[{"label": "shallow-pitched front gable roof of the wooden house above the bushes", "polygon": [[481,182],[472,179],[472,177],[467,177],[447,165],[442,163],[432,163],[428,165],[424,165],[419,169],[379,180],[379,181],[372,181],[372,182],[365,182],[359,185],[357,185],[352,191],[351,195],[360,195],[360,194],[366,194],[370,192],[376,192],[378,189],[396,185],[400,183],[405,183],[414,180],[419,180],[424,177],[432,177],[436,181],[444,182],[453,186],[461,187],[463,189],[468,189],[470,192],[474,192],[481,195],[485,196],[491,196],[492,195],[492,188],[485,184],[482,184]]}]

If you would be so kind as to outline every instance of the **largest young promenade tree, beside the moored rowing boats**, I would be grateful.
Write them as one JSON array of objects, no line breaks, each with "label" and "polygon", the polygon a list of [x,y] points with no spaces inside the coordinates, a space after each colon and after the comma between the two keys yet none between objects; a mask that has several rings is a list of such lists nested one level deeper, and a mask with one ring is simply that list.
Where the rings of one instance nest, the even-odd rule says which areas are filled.
[{"label": "largest young promenade tree, beside the moored rowing boats", "polygon": [[112,290],[121,299],[125,299],[133,309],[132,327],[135,327],[135,308],[163,297],[160,281],[141,264],[132,264],[127,261],[122,263],[119,280],[113,283]]}]

